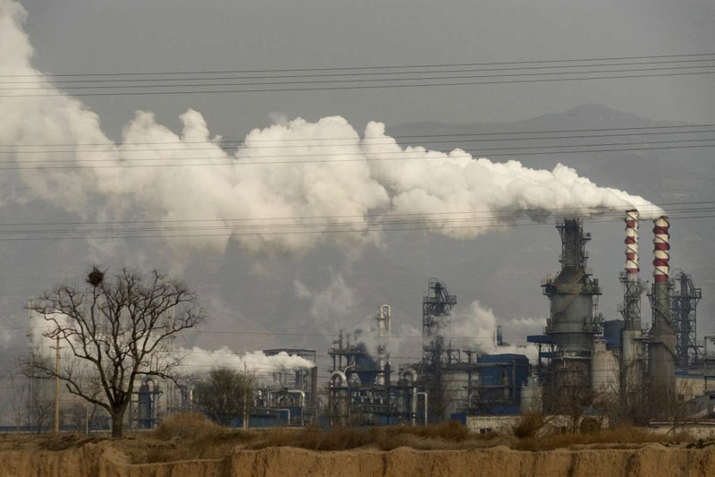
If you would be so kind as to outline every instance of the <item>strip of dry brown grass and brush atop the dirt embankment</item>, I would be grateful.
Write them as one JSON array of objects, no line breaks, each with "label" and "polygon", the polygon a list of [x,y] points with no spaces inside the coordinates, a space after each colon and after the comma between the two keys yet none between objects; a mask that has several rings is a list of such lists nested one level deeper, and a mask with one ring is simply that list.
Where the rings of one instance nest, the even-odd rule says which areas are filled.
[{"label": "strip of dry brown grass and brush atop the dirt embankment", "polygon": [[[125,439],[100,436],[14,436],[0,439],[0,448],[34,448],[63,450],[81,447],[89,442],[109,440],[133,463],[170,462],[185,459],[220,459],[238,449],[266,447],[300,447],[315,451],[340,451],[373,448],[389,451],[397,447],[417,450],[475,449],[507,446],[523,451],[547,451],[556,448],[627,448],[649,442],[694,442],[686,434],[663,436],[637,428],[618,428],[569,434],[543,434],[543,416],[524,416],[511,429],[516,437],[475,435],[457,422],[430,426],[387,426],[374,428],[309,426],[306,428],[272,428],[235,430],[210,422],[203,414],[182,413],[167,417],[150,432],[137,432]],[[710,443],[706,443],[710,444]],[[704,447],[706,444],[702,444]]]}]

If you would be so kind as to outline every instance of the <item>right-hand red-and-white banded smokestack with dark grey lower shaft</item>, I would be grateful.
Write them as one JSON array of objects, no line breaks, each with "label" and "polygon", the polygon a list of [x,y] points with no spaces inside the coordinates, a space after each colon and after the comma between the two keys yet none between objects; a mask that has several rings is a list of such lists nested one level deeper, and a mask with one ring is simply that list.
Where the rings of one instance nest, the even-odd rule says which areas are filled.
[{"label": "right-hand red-and-white banded smokestack with dark grey lower shaft", "polygon": [[668,217],[653,221],[652,328],[649,334],[648,376],[658,402],[675,398],[676,336],[670,319],[670,223]]}]

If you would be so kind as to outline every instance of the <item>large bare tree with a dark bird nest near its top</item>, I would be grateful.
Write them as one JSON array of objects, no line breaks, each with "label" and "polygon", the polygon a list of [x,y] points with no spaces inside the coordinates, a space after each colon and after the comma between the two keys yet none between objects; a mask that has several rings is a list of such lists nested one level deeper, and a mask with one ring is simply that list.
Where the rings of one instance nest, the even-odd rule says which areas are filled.
[{"label": "large bare tree with a dark bird nest near its top", "polygon": [[55,371],[55,360],[33,353],[26,369],[59,377],[67,390],[105,408],[112,435],[122,437],[123,416],[139,376],[172,379],[181,356],[173,338],[205,319],[196,294],[153,270],[123,268],[113,280],[97,267],[86,286],[57,285],[30,305],[45,320],[43,336],[59,339],[69,359]]}]

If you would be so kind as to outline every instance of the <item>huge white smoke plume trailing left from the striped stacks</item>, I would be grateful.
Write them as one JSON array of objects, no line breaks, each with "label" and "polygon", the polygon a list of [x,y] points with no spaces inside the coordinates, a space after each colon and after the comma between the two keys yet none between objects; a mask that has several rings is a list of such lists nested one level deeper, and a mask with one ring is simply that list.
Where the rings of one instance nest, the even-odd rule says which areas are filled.
[{"label": "huge white smoke plume trailing left from the striped stacks", "polygon": [[[30,64],[25,18],[20,4],[0,0],[0,74],[23,75],[29,88],[48,86]],[[19,94],[41,96],[12,97]],[[375,214],[440,214],[428,216],[427,228],[471,239],[509,226],[513,211],[539,220],[562,208],[598,214],[634,205],[644,217],[660,213],[647,200],[599,187],[568,166],[538,170],[460,149],[403,148],[377,122],[361,135],[339,116],[296,118],[249,132],[240,147],[227,151],[193,109],[181,115],[180,133],[138,111],[114,144],[99,117],[61,89],[4,92],[0,107],[0,143],[10,145],[5,166],[19,168],[6,171],[0,186],[15,191],[13,201],[46,200],[88,221],[182,221],[172,224],[181,224],[178,234],[185,236],[169,243],[183,252],[223,252],[230,241],[265,255],[305,253],[324,243],[354,251],[381,240]],[[23,144],[69,146],[13,146]],[[25,150],[40,152],[17,154]],[[228,165],[208,165],[216,163]],[[176,164],[184,166],[157,167]],[[9,187],[17,183],[24,187]],[[0,208],[10,201],[0,199]],[[456,226],[445,215],[468,211],[481,218]],[[325,233],[335,231],[341,233]]]}]

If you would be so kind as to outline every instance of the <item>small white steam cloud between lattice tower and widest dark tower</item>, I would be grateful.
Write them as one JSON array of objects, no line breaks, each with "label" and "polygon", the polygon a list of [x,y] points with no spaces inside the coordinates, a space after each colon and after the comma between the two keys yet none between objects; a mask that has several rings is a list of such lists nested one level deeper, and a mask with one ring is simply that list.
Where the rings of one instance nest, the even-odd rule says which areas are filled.
[{"label": "small white steam cloud between lattice tower and widest dark tower", "polygon": [[[537,332],[539,323],[541,322],[542,326],[545,324],[543,321],[543,319],[519,319],[517,323],[520,322]],[[452,315],[450,334],[452,336],[464,336],[464,338],[458,340],[460,345],[464,345],[466,341],[482,353],[526,354],[529,361],[536,362],[538,351],[534,345],[497,345],[497,326],[501,323],[503,321],[494,316],[492,309],[486,308],[480,302],[475,301],[466,310],[460,310]],[[510,325],[513,326],[514,323]],[[519,328],[518,332],[520,335],[524,335],[525,329]],[[507,340],[505,339],[504,341],[506,342]]]}]

